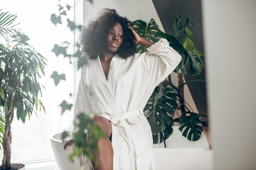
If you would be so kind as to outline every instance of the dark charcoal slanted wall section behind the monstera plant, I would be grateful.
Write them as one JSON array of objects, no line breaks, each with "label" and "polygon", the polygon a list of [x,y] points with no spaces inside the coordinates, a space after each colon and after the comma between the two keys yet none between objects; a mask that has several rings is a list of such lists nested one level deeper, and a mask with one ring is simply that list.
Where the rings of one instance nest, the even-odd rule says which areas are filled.
[{"label": "dark charcoal slanted wall section behind the monstera plant", "polygon": [[[195,48],[204,53],[203,48],[203,34],[202,34],[202,12],[201,12],[201,0],[152,0],[155,5],[155,9],[159,15],[159,18],[164,27],[164,31],[167,34],[175,35],[173,29],[173,23],[175,15],[180,14],[182,19],[182,26],[186,22],[186,18],[189,17],[191,22],[194,23],[189,29],[194,33],[194,38],[191,40],[195,43]],[[204,57],[202,57],[204,62]],[[207,67],[204,62],[204,67]],[[194,79],[205,79],[204,70],[200,75],[184,77],[186,82]],[[188,71],[189,73],[189,71]],[[193,82],[188,84],[191,95],[194,99],[195,105],[198,108],[198,112],[203,115],[207,115],[207,94],[205,82]],[[186,100],[186,96],[184,97]]]}]

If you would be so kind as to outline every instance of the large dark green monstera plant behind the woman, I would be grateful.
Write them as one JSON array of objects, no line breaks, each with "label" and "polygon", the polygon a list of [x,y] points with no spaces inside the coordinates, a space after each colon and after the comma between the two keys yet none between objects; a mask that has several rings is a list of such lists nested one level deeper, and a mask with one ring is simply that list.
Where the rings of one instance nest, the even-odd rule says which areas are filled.
[{"label": "large dark green monstera plant behind the woman", "polygon": [[[190,37],[193,37],[193,32],[189,30],[189,26],[192,26],[190,18],[186,18],[186,23],[182,27],[180,24],[180,15],[175,16],[175,22],[173,28],[175,35],[168,35],[159,30],[159,27],[155,23],[155,20],[151,19],[148,24],[142,20],[136,20],[132,22],[134,29],[143,38],[156,42],[160,38],[166,38],[180,55],[182,56],[182,62],[175,68],[174,72],[178,73],[181,69],[184,76],[189,76],[187,68],[190,68],[191,75],[198,75],[201,73],[204,65],[202,63],[201,56],[203,55],[198,51]],[[137,53],[146,51],[143,46],[137,46]],[[201,81],[201,80],[197,80]],[[165,141],[173,132],[173,122],[180,122],[180,131],[183,131],[182,135],[187,137],[191,141],[196,141],[200,138],[202,132],[202,126],[199,120],[200,115],[193,113],[184,104],[184,99],[180,94],[180,89],[187,83],[181,84],[179,87],[175,87],[171,82],[171,76],[160,83],[156,88],[148,103],[144,108],[145,116],[147,117],[151,130],[153,133],[154,144]],[[178,104],[180,107],[178,107]],[[182,115],[179,119],[173,120],[174,114],[177,109],[182,111]]]}]

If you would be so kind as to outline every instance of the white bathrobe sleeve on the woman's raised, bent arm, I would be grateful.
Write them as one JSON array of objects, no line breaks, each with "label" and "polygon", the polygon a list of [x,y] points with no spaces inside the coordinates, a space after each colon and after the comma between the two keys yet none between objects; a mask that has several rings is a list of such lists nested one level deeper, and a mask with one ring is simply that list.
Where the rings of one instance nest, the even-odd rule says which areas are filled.
[{"label": "white bathrobe sleeve on the woman's raised, bent arm", "polygon": [[161,39],[147,48],[148,54],[144,57],[144,66],[148,71],[153,86],[157,86],[173,72],[179,65],[182,57],[175,51],[166,39]]}]

